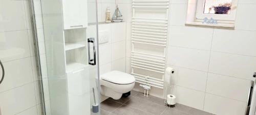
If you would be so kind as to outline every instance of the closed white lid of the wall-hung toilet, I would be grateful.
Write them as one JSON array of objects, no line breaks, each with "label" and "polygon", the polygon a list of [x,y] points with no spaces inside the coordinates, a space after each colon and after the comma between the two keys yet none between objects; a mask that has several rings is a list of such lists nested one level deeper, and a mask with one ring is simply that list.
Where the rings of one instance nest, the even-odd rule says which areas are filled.
[{"label": "closed white lid of the wall-hung toilet", "polygon": [[119,71],[112,71],[100,76],[102,80],[109,81],[115,84],[131,84],[135,82],[135,78],[130,75]]}]

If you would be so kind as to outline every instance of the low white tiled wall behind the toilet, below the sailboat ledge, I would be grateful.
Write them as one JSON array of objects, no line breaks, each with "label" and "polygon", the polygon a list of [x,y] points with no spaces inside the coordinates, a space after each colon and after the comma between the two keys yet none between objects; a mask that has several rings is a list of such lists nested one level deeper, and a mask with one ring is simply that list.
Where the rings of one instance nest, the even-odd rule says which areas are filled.
[{"label": "low white tiled wall behind the toilet, below the sailboat ledge", "polygon": [[99,44],[100,75],[112,70],[125,72],[126,22],[99,25],[99,37],[108,31],[109,42]]}]

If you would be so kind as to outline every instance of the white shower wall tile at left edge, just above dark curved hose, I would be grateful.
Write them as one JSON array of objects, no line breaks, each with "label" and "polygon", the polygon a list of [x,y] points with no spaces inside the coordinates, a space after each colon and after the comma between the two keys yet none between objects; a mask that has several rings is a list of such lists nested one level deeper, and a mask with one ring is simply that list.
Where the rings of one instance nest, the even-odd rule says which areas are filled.
[{"label": "white shower wall tile at left edge, just above dark curved hose", "polygon": [[30,57],[27,30],[0,32],[0,58],[3,62]]}]

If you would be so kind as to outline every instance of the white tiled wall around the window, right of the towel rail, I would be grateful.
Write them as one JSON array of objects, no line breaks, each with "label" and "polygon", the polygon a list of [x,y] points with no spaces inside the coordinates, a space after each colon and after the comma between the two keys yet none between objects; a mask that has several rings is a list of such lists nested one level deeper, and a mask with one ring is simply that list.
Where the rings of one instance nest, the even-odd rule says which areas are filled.
[{"label": "white tiled wall around the window, right of the towel rail", "polygon": [[[218,115],[244,114],[250,80],[256,71],[254,11],[254,1],[239,0],[234,30],[185,26],[187,0],[171,0],[167,66],[176,70],[173,94],[178,103]],[[129,35],[129,29],[126,33]],[[142,91],[138,86],[135,90]],[[162,92],[157,88],[150,91],[160,98]]]}]

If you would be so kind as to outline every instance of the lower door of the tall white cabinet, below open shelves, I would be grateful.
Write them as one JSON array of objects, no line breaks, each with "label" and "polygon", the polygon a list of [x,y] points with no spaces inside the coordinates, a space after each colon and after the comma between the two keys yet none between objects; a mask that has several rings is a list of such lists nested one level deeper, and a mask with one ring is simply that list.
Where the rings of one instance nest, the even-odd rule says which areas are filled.
[{"label": "lower door of the tall white cabinet, below open shelves", "polygon": [[89,66],[67,73],[70,115],[90,114]]}]

